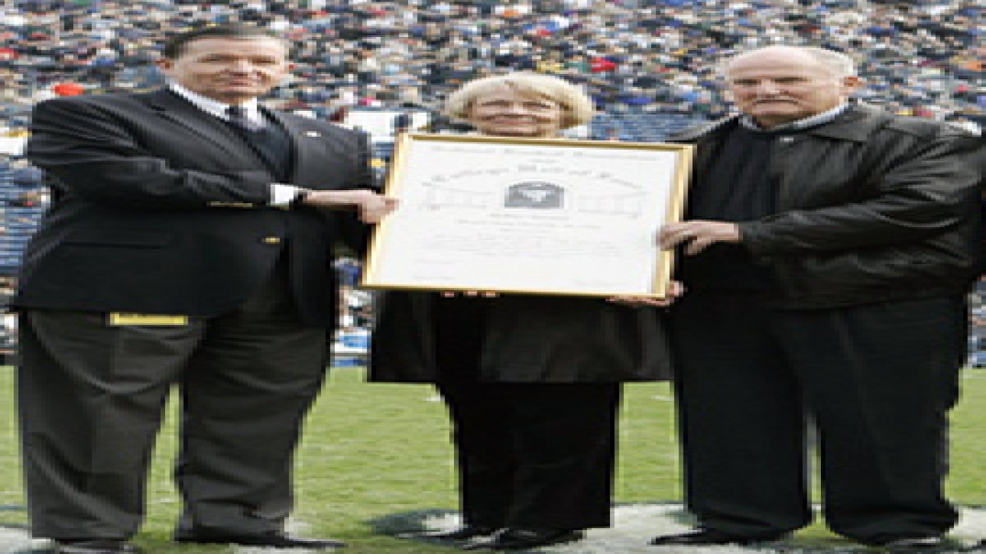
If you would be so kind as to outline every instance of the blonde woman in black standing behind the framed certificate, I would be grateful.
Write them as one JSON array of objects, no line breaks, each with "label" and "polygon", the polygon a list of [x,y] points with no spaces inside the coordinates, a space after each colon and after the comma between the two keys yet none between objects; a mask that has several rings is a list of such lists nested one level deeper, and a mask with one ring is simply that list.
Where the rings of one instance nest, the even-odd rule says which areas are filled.
[{"label": "blonde woman in black standing behind the framed certificate", "polygon": [[[593,104],[536,73],[464,84],[447,113],[480,134],[551,138]],[[658,314],[602,299],[389,292],[371,380],[434,382],[449,407],[467,550],[578,540],[608,526],[620,382],[669,375]]]}]

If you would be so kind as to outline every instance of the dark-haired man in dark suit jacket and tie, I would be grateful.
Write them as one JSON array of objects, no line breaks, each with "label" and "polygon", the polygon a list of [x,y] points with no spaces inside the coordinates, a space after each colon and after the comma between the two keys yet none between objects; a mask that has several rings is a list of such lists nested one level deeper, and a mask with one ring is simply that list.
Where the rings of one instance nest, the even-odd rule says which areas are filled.
[{"label": "dark-haired man in dark suit jacket and tie", "polygon": [[176,540],[334,548],[283,532],[292,457],[335,320],[332,243],[392,201],[366,138],[257,104],[288,45],[176,35],[150,94],[35,107],[52,205],[25,254],[19,405],[35,536],[133,552],[168,392],[181,396]]}]

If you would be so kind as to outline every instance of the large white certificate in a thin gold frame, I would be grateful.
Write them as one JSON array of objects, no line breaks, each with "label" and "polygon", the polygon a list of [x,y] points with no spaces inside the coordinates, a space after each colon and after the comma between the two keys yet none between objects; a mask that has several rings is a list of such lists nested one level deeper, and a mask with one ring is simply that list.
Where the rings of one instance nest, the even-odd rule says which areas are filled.
[{"label": "large white certificate in a thin gold frame", "polygon": [[667,296],[671,252],[657,233],[680,218],[692,151],[401,135],[386,186],[399,205],[374,234],[362,286]]}]

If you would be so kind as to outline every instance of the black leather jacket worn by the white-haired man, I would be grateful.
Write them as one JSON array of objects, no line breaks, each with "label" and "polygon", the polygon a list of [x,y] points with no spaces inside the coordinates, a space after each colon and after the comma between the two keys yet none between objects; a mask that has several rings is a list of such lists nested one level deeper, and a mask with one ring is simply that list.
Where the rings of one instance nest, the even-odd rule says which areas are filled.
[{"label": "black leather jacket worn by the white-haired man", "polygon": [[[670,139],[696,145],[693,178],[738,124]],[[777,213],[741,222],[741,243],[773,271],[784,308],[961,294],[979,269],[980,144],[946,123],[851,104],[777,139],[768,169]]]}]

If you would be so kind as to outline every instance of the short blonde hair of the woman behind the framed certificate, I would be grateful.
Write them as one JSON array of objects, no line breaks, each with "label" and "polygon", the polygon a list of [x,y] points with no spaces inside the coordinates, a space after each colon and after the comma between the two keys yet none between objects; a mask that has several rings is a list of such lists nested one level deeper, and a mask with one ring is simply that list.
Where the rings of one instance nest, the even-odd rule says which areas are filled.
[{"label": "short blonde hair of the woman behind the framed certificate", "polygon": [[493,75],[469,81],[449,96],[445,103],[445,113],[456,119],[468,120],[469,110],[477,99],[502,88],[560,105],[563,111],[562,129],[588,123],[593,118],[595,111],[593,101],[581,89],[559,77],[532,71]]}]

